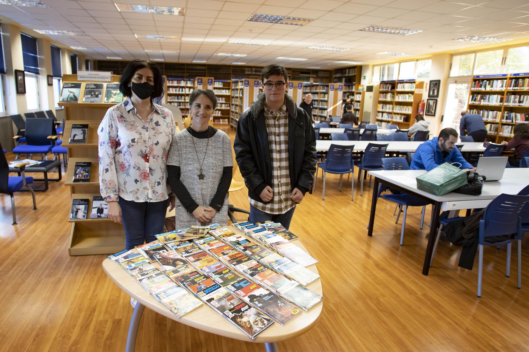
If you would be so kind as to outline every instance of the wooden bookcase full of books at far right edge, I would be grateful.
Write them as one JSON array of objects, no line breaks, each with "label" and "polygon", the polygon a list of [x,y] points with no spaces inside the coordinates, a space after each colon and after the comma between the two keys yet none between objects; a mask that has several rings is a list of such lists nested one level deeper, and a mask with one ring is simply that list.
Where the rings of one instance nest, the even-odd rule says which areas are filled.
[{"label": "wooden bookcase full of books at far right edge", "polygon": [[472,78],[468,108],[481,115],[491,142],[513,137],[518,123],[529,123],[529,72]]}]

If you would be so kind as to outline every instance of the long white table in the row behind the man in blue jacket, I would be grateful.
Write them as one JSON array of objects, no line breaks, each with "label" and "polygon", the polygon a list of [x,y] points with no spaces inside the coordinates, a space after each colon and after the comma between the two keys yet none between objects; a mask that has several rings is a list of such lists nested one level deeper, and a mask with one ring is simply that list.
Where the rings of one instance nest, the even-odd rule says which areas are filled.
[{"label": "long white table in the row behind the man in blue jacket", "polygon": [[[336,129],[336,128],[329,128]],[[316,150],[321,152],[329,151],[331,144],[337,145],[354,145],[353,151],[363,152],[366,150],[366,147],[369,143],[375,144],[388,144],[388,152],[415,152],[417,147],[424,142],[414,142],[414,141],[330,141],[330,140],[320,140],[316,141]],[[484,152],[485,147],[481,142],[467,142],[464,143],[461,152]]]}]

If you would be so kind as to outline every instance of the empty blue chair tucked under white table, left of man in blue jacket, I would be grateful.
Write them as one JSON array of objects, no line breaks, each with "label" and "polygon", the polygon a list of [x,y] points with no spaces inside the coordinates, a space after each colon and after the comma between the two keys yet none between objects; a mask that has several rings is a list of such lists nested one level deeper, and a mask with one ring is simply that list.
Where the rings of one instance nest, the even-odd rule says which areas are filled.
[{"label": "empty blue chair tucked under white table, left of man in blue jacket", "polygon": [[[402,156],[397,158],[382,158],[382,163],[384,164],[384,170],[409,170],[408,161],[406,158],[403,158]],[[400,217],[400,212],[404,211],[404,215],[402,218],[402,228],[400,229],[400,245],[403,245],[404,241],[404,228],[406,226],[406,213],[408,210],[408,207],[423,207],[422,210],[422,216],[421,216],[421,226],[420,228],[423,228],[424,224],[424,212],[426,211],[426,206],[428,205],[427,202],[417,199],[413,196],[410,196],[406,193],[400,193],[400,194],[391,194],[386,193],[382,194],[385,190],[387,190],[388,187],[380,184],[380,187],[378,188],[378,197],[382,199],[386,199],[390,202],[396,203],[396,205],[399,207],[399,212],[397,215],[397,220],[395,220],[395,224],[398,223],[398,219]],[[403,210],[404,207],[404,210]],[[395,208],[396,210],[396,208]],[[395,215],[395,211],[394,211]]]}]

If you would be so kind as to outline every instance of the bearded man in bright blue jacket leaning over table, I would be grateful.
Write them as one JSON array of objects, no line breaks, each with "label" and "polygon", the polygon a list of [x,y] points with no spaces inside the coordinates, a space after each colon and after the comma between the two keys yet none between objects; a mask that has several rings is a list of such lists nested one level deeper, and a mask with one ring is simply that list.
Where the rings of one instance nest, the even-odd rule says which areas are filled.
[{"label": "bearded man in bright blue jacket leaning over table", "polygon": [[412,159],[410,170],[430,171],[442,163],[460,163],[463,171],[476,171],[474,166],[464,160],[463,155],[455,146],[458,133],[453,128],[444,128],[439,137],[433,137],[419,145]]}]

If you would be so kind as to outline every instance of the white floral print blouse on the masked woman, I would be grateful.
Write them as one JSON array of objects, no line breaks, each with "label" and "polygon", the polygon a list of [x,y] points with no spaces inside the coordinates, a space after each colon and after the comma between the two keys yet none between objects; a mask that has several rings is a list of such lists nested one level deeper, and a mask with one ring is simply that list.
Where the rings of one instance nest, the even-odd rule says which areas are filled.
[{"label": "white floral print blouse on the masked woman", "polygon": [[152,106],[143,122],[127,98],[108,109],[99,125],[99,190],[106,201],[169,198],[166,161],[177,131],[170,110]]}]

